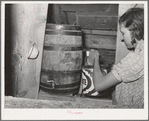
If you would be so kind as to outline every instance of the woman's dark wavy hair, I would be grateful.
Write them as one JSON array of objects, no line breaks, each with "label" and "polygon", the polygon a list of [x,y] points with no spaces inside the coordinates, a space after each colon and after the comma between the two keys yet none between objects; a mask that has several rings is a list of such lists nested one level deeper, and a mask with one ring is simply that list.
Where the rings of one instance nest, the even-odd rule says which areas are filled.
[{"label": "woman's dark wavy hair", "polygon": [[144,40],[144,9],[143,8],[130,8],[124,13],[119,23],[123,24],[131,32],[132,44],[137,40]]}]

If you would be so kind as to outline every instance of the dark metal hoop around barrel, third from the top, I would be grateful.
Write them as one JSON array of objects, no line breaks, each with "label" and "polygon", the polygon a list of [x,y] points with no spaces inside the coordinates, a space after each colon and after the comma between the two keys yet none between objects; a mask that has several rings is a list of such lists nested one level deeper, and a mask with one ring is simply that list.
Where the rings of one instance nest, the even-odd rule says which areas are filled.
[{"label": "dark metal hoop around barrel, third from the top", "polygon": [[68,47],[66,45],[52,45],[52,46],[45,46],[44,50],[55,50],[55,51],[78,51],[82,50],[82,47]]}]

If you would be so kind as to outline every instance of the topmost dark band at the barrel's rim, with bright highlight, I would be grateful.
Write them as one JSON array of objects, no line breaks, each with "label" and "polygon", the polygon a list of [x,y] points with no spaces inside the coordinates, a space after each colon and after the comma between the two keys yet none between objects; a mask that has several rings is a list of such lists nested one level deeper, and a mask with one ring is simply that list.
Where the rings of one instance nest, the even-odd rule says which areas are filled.
[{"label": "topmost dark band at the barrel's rim, with bright highlight", "polygon": [[69,25],[69,24],[52,24],[47,23],[46,29],[57,29],[57,30],[81,30],[80,25]]}]

